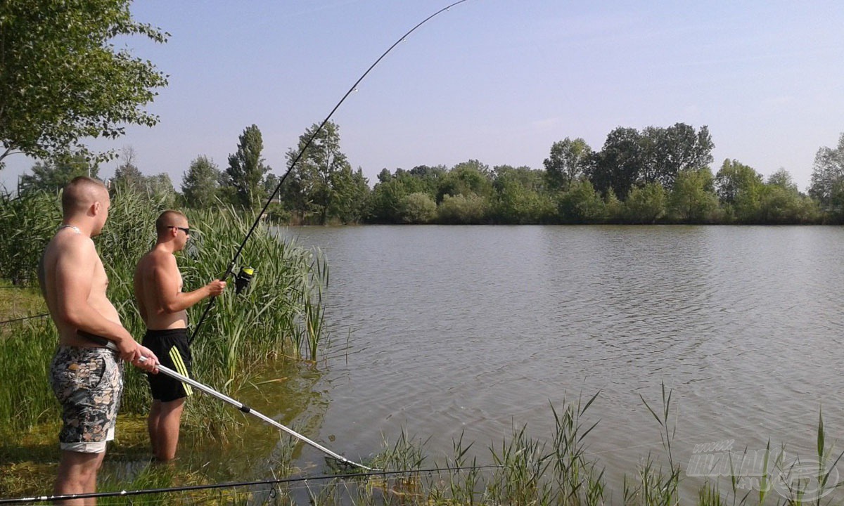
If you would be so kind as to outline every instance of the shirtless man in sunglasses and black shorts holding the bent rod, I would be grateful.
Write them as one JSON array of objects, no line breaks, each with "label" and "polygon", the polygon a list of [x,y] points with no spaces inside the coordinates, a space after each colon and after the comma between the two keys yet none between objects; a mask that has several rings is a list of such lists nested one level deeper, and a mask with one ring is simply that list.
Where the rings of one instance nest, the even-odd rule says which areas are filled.
[{"label": "shirtless man in sunglasses and black shorts holding the bent rod", "polygon": [[[158,240],[135,269],[135,299],[147,334],[143,346],[157,353],[161,363],[179,374],[190,376],[191,351],[187,347],[187,315],[193,304],[223,293],[225,281],[213,281],[192,292],[181,291],[181,272],[176,265],[176,251],[185,249],[191,229],[187,217],[178,211],[165,211],[155,220]],[[147,427],[155,459],[167,462],[176,458],[179,423],[190,385],[163,374],[149,374],[153,405]]]}]

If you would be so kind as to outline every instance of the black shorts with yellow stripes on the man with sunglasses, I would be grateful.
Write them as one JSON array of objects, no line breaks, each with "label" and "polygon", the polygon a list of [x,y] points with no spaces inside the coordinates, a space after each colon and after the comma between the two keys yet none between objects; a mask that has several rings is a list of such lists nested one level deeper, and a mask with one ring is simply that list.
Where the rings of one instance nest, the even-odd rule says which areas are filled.
[{"label": "black shorts with yellow stripes on the man with sunglasses", "polygon": [[[187,329],[165,329],[147,331],[143,336],[143,346],[148,347],[158,357],[159,363],[177,373],[191,377],[191,349],[187,346]],[[156,401],[170,402],[190,396],[191,385],[174,380],[166,374],[147,373],[149,390]]]}]

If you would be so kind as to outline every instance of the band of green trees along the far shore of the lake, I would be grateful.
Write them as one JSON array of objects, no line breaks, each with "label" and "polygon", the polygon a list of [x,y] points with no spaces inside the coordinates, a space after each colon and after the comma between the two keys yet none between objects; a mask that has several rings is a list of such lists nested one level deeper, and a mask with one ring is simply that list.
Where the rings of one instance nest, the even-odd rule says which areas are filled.
[{"label": "band of green trees along the far shore of the lake", "polygon": [[[288,166],[316,130],[306,129],[288,150]],[[816,154],[808,193],[787,170],[765,178],[735,159],[713,174],[712,148],[706,126],[619,127],[599,151],[582,138],[554,143],[542,169],[469,159],[451,168],[383,169],[371,187],[329,121],[290,170],[268,217],[285,224],[844,223],[844,134],[836,148]],[[262,207],[281,177],[262,150],[260,130],[247,126],[225,169],[200,155],[178,192],[166,174],[143,175],[133,148],[124,148],[109,185],[170,206]],[[55,190],[82,174],[98,175],[98,164],[80,154],[52,157],[22,176],[18,190]]]}]

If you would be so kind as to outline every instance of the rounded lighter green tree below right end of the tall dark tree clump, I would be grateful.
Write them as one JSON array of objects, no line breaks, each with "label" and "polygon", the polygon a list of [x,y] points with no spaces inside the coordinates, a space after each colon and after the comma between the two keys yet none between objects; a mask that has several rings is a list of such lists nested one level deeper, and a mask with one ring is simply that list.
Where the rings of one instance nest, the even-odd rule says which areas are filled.
[{"label": "rounded lighter green tree below right end of the tall dark tree clump", "polygon": [[668,196],[671,217],[681,223],[711,222],[718,208],[713,181],[708,167],[679,171]]}]

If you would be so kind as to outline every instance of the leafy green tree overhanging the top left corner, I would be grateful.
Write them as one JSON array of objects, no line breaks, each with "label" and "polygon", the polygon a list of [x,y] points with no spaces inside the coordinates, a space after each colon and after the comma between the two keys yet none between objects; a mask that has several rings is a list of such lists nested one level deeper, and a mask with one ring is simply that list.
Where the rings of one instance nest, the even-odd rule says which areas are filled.
[{"label": "leafy green tree overhanging the top left corner", "polygon": [[[143,110],[167,78],[116,36],[166,35],[136,22],[130,0],[0,2],[0,167],[12,153],[48,159],[87,154],[84,137],[119,137],[126,125],[154,126]],[[96,160],[111,158],[111,153]]]}]

